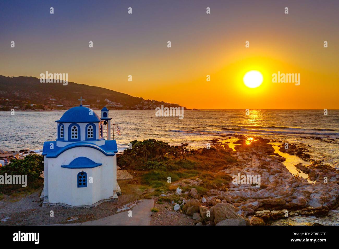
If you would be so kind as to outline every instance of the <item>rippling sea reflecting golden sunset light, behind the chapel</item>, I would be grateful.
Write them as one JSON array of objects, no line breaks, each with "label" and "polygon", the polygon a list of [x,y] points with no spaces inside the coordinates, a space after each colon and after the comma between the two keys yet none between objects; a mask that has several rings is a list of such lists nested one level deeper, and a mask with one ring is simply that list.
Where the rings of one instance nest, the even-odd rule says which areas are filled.
[{"label": "rippling sea reflecting golden sunset light, behind the chapel", "polygon": [[[100,116],[100,111],[95,112]],[[0,149],[41,152],[44,141],[56,139],[55,120],[59,120],[63,113],[15,111],[15,115],[11,115],[10,111],[0,111]],[[242,134],[275,140],[272,144],[276,152],[286,157],[284,164],[293,174],[300,174],[295,164],[307,163],[296,156],[279,152],[279,144],[306,146],[313,159],[339,169],[339,110],[328,110],[327,115],[324,115],[324,110],[250,109],[246,113],[244,109],[202,109],[185,110],[183,119],[156,117],[155,114],[155,110],[109,111],[109,117],[115,123],[111,127],[111,134],[112,138],[114,134],[118,150],[123,151],[130,141],[148,138],[171,145],[188,143],[190,148],[201,148],[206,147],[212,139],[227,140],[229,134]],[[116,132],[117,127],[120,135]],[[229,140],[231,147],[233,140],[237,139]],[[339,216],[337,211],[334,215]],[[293,224],[298,223],[293,221]]]}]

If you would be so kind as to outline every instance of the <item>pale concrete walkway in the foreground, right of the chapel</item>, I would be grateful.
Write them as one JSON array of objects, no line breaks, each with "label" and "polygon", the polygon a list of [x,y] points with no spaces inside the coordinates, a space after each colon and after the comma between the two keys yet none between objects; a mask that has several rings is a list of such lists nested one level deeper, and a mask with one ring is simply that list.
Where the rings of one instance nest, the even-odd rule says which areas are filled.
[{"label": "pale concrete walkway in the foreground, right of the chapel", "polygon": [[151,209],[154,207],[154,200],[144,199],[135,205],[132,217],[128,216],[128,211],[116,213],[111,216],[101,218],[96,221],[86,221],[83,223],[58,224],[68,226],[149,226],[151,223]]}]

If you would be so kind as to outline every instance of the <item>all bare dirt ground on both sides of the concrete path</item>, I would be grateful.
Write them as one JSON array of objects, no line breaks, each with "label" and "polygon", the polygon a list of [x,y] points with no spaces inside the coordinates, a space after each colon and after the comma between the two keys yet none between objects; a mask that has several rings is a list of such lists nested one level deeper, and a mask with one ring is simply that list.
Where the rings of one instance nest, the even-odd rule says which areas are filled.
[{"label": "all bare dirt ground on both sides of the concrete path", "polygon": [[[0,201],[0,225],[52,225],[98,220],[115,214],[118,207],[143,198],[145,187],[130,184],[129,180],[118,180],[118,183],[122,190],[118,203],[104,202],[95,208],[42,207],[40,201],[42,186],[32,194],[19,196],[4,194],[3,200]],[[154,207],[159,212],[152,213],[151,225],[194,225],[191,217],[175,212],[173,205],[169,203],[158,204],[155,200]],[[54,212],[53,217],[50,216],[51,211]],[[73,218],[76,219],[68,221]]]}]

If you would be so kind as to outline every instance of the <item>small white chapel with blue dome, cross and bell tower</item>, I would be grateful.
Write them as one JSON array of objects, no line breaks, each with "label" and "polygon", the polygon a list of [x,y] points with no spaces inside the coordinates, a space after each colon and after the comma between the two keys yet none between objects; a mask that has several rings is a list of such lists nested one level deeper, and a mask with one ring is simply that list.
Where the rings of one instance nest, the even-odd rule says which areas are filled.
[{"label": "small white chapel with blue dome, cross and bell tower", "polygon": [[[117,200],[118,150],[116,141],[111,140],[108,112],[104,107],[99,117],[80,104],[55,121],[56,141],[44,142],[42,152],[45,206],[91,207]],[[104,124],[107,139],[103,137]]]}]

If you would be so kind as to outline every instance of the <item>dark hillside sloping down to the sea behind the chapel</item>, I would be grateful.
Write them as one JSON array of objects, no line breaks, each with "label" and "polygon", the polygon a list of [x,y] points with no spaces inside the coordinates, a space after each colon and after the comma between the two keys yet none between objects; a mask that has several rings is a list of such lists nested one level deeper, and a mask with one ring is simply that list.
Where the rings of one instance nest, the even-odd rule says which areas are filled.
[{"label": "dark hillside sloping down to the sea behind the chapel", "polygon": [[104,105],[117,110],[154,110],[161,105],[180,107],[178,104],[144,100],[97,86],[74,82],[64,86],[62,83],[40,83],[39,78],[35,77],[0,75],[0,110],[68,109],[79,105],[80,96],[85,99],[83,105],[89,105],[92,109],[101,109]]}]

